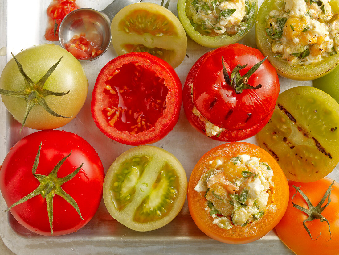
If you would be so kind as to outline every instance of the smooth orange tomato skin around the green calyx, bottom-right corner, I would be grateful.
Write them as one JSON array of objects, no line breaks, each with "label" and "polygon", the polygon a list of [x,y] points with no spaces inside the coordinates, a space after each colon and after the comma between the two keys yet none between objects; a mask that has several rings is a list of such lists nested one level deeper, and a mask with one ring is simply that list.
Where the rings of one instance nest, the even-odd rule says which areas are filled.
[{"label": "smooth orange tomato skin around the green calyx, bottom-right corner", "polygon": [[[299,187],[303,193],[310,199],[313,206],[316,206],[323,198],[326,190],[333,183],[330,178],[322,178],[315,182],[295,182],[288,181],[290,186],[290,199],[287,205],[287,210],[282,217],[281,221],[275,227],[277,234],[281,241],[283,241],[288,248],[298,255],[302,254],[326,254],[337,255],[339,252],[339,184],[334,182],[331,187],[331,202],[321,212],[321,215],[325,217],[330,224],[330,232],[328,231],[328,225],[325,221],[320,222],[319,219],[306,222],[307,228],[310,230],[310,235],[306,232],[303,226],[303,221],[307,219],[307,214],[293,207],[292,197],[296,193],[296,189],[292,186]],[[327,204],[327,198],[320,205],[320,207]],[[308,205],[305,199],[298,192],[293,202],[301,207],[308,209]],[[296,238],[297,237],[297,238]]]}]

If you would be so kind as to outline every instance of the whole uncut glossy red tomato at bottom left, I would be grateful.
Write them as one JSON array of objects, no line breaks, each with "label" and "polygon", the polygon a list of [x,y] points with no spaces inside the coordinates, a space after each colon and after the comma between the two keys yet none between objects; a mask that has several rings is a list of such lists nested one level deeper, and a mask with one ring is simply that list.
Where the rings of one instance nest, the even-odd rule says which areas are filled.
[{"label": "whole uncut glossy red tomato at bottom left", "polygon": [[[36,169],[38,177],[49,175],[57,163],[70,152],[72,152],[71,155],[57,172],[58,178],[71,174],[83,163],[76,176],[61,185],[61,189],[71,196],[78,205],[83,220],[75,207],[64,198],[61,196],[52,198],[53,235],[78,231],[92,219],[99,207],[104,170],[94,148],[76,134],[60,130],[43,130],[21,139],[8,152],[3,161],[0,171],[1,194],[9,207],[39,186],[40,182],[33,175],[32,168],[40,143],[42,143],[42,147]],[[56,182],[54,179],[53,183]],[[52,192],[57,192],[55,187],[53,186]],[[46,199],[48,197],[49,195],[46,196]],[[10,212],[28,230],[50,236],[51,227],[46,199],[38,194],[14,206]]]}]

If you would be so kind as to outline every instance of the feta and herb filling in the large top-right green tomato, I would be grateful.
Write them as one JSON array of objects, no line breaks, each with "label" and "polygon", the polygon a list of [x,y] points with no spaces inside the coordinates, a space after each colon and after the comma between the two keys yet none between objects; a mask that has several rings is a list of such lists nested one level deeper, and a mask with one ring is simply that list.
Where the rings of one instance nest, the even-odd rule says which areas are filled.
[{"label": "feta and herb filling in the large top-right green tomato", "polygon": [[266,35],[272,52],[294,66],[310,66],[336,54],[338,14],[328,0],[284,0],[268,14]]}]

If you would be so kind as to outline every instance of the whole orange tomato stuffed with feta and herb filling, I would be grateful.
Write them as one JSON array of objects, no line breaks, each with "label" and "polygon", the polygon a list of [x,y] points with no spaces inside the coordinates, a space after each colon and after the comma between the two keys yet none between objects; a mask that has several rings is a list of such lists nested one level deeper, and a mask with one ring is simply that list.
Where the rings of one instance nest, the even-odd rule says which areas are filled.
[{"label": "whole orange tomato stuffed with feta and herb filling", "polygon": [[187,199],[202,232],[240,244],[275,227],[286,211],[288,195],[286,177],[270,154],[253,144],[233,142],[202,156],[192,171]]}]

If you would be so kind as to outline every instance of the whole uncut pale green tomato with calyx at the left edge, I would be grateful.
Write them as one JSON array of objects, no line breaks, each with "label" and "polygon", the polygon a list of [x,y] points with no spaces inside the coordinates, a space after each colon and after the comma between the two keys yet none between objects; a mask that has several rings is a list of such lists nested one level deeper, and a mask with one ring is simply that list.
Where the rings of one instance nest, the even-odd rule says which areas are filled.
[{"label": "whole uncut pale green tomato with calyx at the left edge", "polygon": [[[88,89],[80,62],[55,44],[28,48],[15,58],[8,61],[0,77],[2,101],[14,119],[33,129],[55,129],[74,119],[85,103]],[[31,81],[29,94],[24,76]],[[43,82],[39,84],[39,81]],[[42,88],[37,88],[39,86]],[[26,94],[19,97],[4,95],[8,91]],[[27,111],[27,106],[32,108]]]}]

